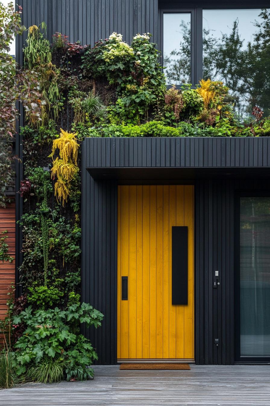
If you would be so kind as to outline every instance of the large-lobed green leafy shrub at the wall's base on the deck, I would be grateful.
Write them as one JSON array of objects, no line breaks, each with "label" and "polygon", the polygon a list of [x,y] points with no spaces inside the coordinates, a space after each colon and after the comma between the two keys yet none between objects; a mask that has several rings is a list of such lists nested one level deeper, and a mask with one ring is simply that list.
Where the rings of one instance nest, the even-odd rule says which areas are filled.
[{"label": "large-lobed green leafy shrub at the wall's base on the deck", "polygon": [[40,365],[41,361],[61,358],[61,362],[66,362],[64,375],[68,380],[89,378],[93,371],[87,366],[97,355],[89,341],[79,334],[80,324],[97,328],[102,319],[103,315],[86,303],[74,304],[65,311],[57,307],[32,311],[29,306],[13,317],[14,324],[26,324],[23,336],[15,344],[17,374]]}]

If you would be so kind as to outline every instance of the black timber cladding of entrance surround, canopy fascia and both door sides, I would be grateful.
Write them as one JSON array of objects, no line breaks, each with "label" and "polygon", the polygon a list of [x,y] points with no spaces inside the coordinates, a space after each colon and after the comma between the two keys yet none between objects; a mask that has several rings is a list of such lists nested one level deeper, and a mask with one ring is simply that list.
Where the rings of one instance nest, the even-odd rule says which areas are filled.
[{"label": "black timber cladding of entrance surround, canopy fascia and both door sides", "polygon": [[[221,165],[224,176],[228,168],[234,173],[240,165],[253,171],[264,167],[269,175],[269,141],[268,138],[85,139],[82,297],[109,312],[105,314],[100,336],[96,332],[89,335],[98,349],[99,363],[117,360],[117,179],[94,180],[90,175],[92,169],[113,170],[119,165],[131,172],[137,167],[157,171],[158,167],[165,170],[169,165],[176,168],[176,163],[182,162],[183,168],[192,163],[200,168],[208,165],[211,171]],[[233,364],[235,194],[239,190],[251,190],[251,194],[252,190],[269,190],[270,181],[258,177],[189,182],[195,185],[195,359],[198,364]],[[102,241],[106,246],[100,247]],[[213,289],[216,270],[220,285]],[[106,281],[102,279],[105,274]],[[219,338],[218,347],[215,338]]]}]

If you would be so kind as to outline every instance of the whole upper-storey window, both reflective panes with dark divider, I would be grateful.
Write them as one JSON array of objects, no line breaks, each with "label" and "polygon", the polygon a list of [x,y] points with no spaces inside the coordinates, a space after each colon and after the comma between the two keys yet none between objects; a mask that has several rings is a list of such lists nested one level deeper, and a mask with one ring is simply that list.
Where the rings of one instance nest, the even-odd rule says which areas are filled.
[{"label": "whole upper-storey window, both reflective panes with dark divider", "polygon": [[202,78],[222,81],[242,120],[254,106],[264,110],[264,117],[270,114],[269,55],[270,9],[163,13],[167,84],[196,86]]}]

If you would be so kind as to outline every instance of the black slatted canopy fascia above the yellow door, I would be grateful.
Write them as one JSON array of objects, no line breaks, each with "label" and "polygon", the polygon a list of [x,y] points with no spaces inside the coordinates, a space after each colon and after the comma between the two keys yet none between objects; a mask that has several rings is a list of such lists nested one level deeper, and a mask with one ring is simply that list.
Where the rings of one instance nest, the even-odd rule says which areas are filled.
[{"label": "black slatted canopy fascia above the yellow door", "polygon": [[86,138],[87,168],[270,166],[270,138]]}]

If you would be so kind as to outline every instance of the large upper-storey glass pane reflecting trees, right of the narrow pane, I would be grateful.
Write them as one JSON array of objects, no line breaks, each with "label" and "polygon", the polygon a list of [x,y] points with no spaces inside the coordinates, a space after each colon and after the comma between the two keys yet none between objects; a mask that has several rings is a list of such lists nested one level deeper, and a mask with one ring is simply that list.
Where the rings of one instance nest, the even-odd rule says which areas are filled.
[{"label": "large upper-storey glass pane reflecting trees, right of the narrow pane", "polygon": [[203,11],[203,78],[230,88],[234,113],[270,114],[270,9]]}]

